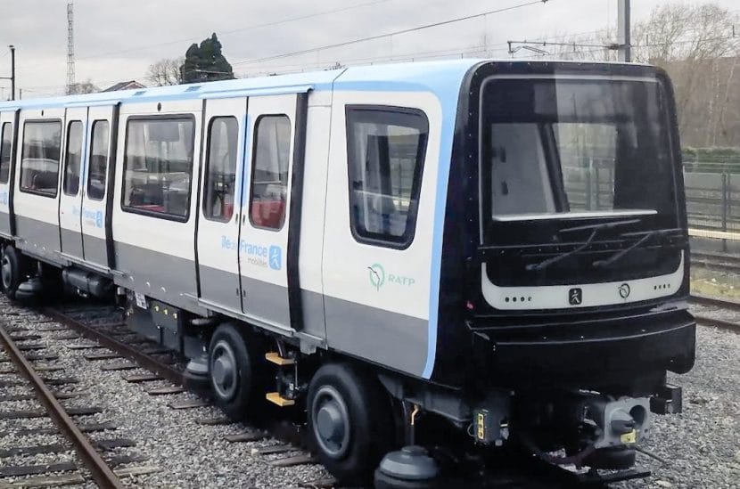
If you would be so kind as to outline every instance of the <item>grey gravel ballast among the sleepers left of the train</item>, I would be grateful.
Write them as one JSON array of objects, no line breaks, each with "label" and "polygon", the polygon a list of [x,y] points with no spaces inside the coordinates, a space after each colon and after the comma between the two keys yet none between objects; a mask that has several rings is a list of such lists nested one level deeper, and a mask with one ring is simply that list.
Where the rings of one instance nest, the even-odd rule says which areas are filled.
[{"label": "grey gravel ballast among the sleepers left of the train", "polygon": [[[48,320],[38,314],[29,314],[27,309],[12,305],[0,297],[0,320],[12,322],[13,326],[28,328],[36,332],[35,323]],[[261,440],[250,443],[229,443],[226,435],[251,431],[252,428],[240,423],[227,425],[204,426],[196,420],[223,417],[218,408],[207,406],[186,410],[173,410],[169,403],[197,400],[191,393],[177,395],[146,394],[153,387],[171,386],[166,381],[128,383],[124,376],[148,373],[142,369],[127,371],[102,371],[101,366],[110,362],[90,362],[84,355],[105,353],[108,350],[82,349],[73,350],[68,345],[88,343],[85,338],[75,340],[54,339],[60,331],[39,332],[42,336],[34,343],[43,343],[45,353],[59,355],[51,363],[64,367],[63,371],[53,372],[53,376],[74,377],[78,384],[65,387],[65,390],[83,391],[86,394],[64,401],[68,407],[101,406],[103,412],[78,418],[80,423],[103,423],[112,421],[119,428],[104,432],[92,433],[93,440],[127,438],[136,442],[135,447],[117,448],[111,455],[142,455],[143,462],[128,464],[131,466],[156,466],[159,472],[144,476],[124,477],[126,485],[138,487],[297,487],[300,483],[330,477],[325,469],[317,464],[302,465],[291,468],[278,468],[267,464],[275,457],[253,454],[259,446],[277,444],[276,440]],[[22,344],[22,343],[21,343]],[[52,374],[49,374],[51,377]],[[20,392],[21,387],[0,387],[0,393]],[[12,403],[0,409],[30,407],[34,402]],[[0,431],[11,432],[21,428],[35,428],[39,420],[0,420]],[[0,448],[35,444],[38,442],[59,441],[60,436],[8,436],[0,440]],[[6,446],[7,445],[7,446]],[[69,460],[70,453],[45,454],[35,457],[17,457],[12,460],[0,460],[0,465],[22,463],[53,463],[57,460]],[[117,468],[118,469],[118,468]],[[10,482],[10,478],[0,482]],[[94,486],[94,485],[91,485]]]}]

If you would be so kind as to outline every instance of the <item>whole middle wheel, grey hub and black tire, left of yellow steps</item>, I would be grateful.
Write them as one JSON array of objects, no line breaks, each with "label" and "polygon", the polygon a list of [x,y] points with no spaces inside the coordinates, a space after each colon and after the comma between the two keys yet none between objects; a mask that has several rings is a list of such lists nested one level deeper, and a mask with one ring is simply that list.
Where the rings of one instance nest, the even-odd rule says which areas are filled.
[{"label": "whole middle wheel, grey hub and black tire, left of yellow steps", "polygon": [[234,420],[250,414],[260,400],[262,376],[258,352],[251,340],[230,323],[218,326],[210,338],[211,392],[218,406]]}]

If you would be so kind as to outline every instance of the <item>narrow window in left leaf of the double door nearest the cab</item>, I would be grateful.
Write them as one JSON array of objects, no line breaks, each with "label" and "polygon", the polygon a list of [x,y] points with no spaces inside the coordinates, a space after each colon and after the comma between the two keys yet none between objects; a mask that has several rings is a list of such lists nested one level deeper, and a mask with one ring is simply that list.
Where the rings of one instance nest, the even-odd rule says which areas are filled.
[{"label": "narrow window in left leaf of the double door nearest the cab", "polygon": [[203,216],[227,223],[234,216],[239,123],[234,117],[210,119]]}]

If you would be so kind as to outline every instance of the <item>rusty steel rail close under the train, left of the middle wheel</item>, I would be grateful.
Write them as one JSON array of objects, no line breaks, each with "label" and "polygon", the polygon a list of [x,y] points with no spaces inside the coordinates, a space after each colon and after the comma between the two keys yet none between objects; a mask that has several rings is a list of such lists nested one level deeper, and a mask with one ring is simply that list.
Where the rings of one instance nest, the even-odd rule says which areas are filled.
[{"label": "rusty steel rail close under the train, left of the middle wheel", "polygon": [[[76,330],[82,336],[95,339],[95,341],[100,343],[103,347],[109,348],[130,360],[134,360],[139,364],[139,366],[156,373],[161,378],[168,379],[170,382],[174,382],[178,385],[184,384],[185,379],[183,378],[183,372],[173,369],[165,363],[158,362],[156,359],[152,358],[152,356],[142,353],[134,346],[127,345],[116,338],[111,338],[103,333],[103,331],[97,330],[93,326],[88,326],[84,322],[71,318],[52,307],[44,307],[43,312],[55,321],[62,322],[65,326],[69,326],[72,330]],[[107,326],[110,327],[111,324],[108,324]]]}]

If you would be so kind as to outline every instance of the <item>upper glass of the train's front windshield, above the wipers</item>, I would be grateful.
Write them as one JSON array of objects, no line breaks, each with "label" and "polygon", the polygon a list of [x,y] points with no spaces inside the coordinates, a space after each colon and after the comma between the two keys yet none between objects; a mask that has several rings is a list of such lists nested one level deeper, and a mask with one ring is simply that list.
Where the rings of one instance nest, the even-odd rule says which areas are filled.
[{"label": "upper glass of the train's front windshield, above the wipers", "polygon": [[650,78],[489,79],[481,100],[483,216],[675,216],[664,99]]}]

